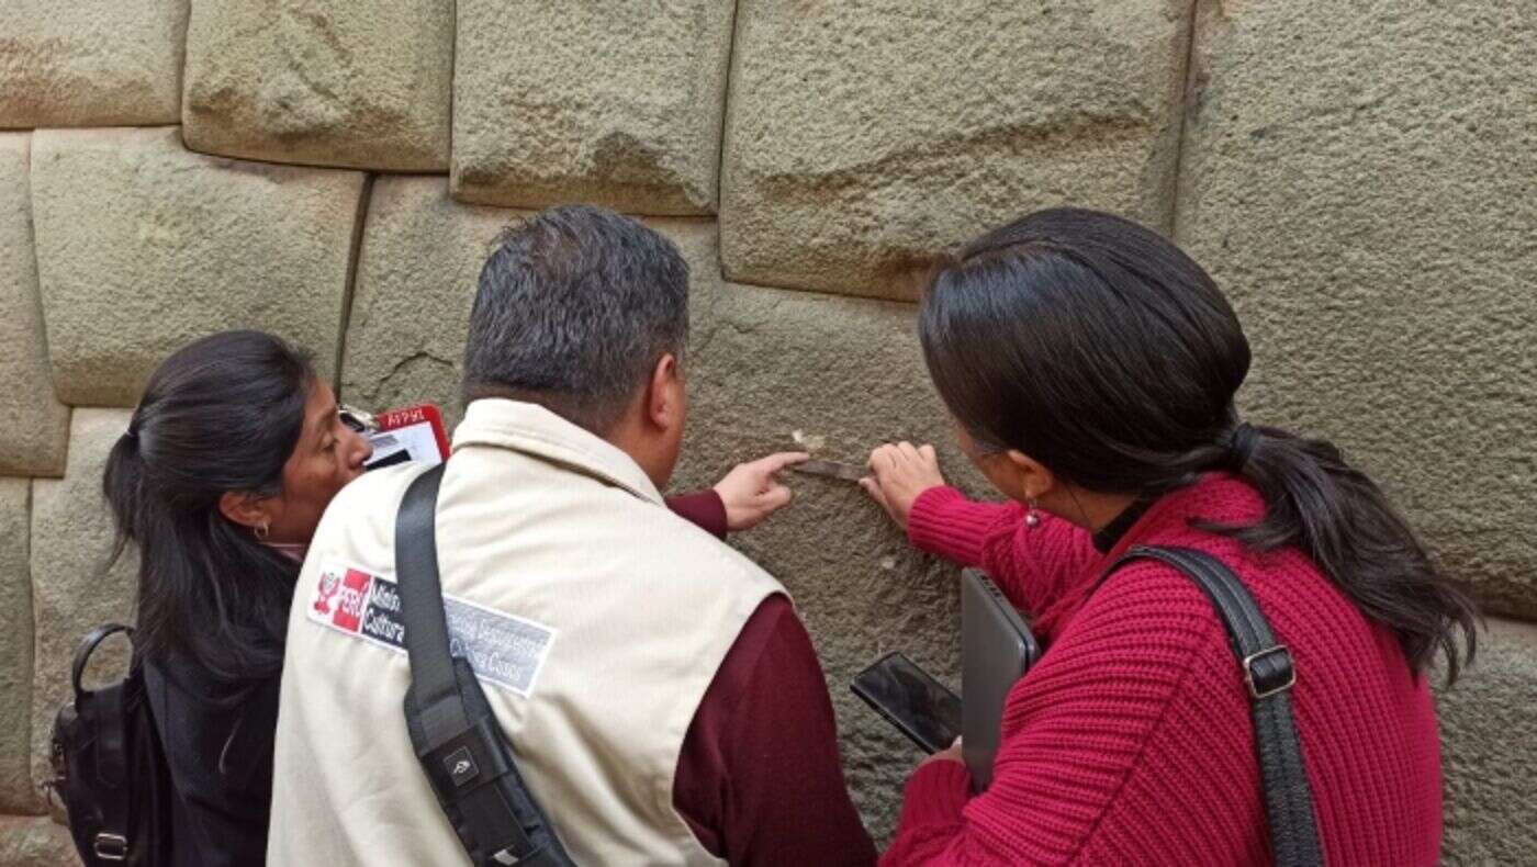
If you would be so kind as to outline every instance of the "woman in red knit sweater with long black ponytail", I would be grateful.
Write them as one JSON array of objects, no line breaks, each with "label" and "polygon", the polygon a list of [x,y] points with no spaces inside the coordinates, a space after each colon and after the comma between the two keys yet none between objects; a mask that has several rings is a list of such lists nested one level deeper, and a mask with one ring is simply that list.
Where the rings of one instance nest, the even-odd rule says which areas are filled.
[{"label": "woman in red knit sweater with long black ponytail", "polygon": [[1133,546],[1217,556],[1290,649],[1323,859],[1434,864],[1428,669],[1477,613],[1322,440],[1239,420],[1250,347],[1211,278],[1125,220],[1042,211],[941,267],[919,334],[965,455],[1013,503],[882,446],[865,489],[924,550],[978,566],[1045,655],[1008,696],[985,793],[959,752],[907,784],[885,864],[1265,864],[1250,695],[1222,621]]}]

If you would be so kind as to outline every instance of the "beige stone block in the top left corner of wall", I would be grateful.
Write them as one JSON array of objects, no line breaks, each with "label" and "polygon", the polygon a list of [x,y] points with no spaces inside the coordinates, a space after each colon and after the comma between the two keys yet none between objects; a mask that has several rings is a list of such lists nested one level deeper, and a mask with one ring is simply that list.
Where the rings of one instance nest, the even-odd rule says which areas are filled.
[{"label": "beige stone block in the top left corner of wall", "polygon": [[188,0],[0,3],[0,128],[175,123]]}]

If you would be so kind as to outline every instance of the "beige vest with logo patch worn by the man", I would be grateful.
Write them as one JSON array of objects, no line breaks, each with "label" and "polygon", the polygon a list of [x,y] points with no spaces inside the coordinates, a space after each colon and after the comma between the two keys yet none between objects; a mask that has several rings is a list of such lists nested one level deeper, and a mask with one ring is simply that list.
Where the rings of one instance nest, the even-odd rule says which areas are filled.
[{"label": "beige vest with logo patch worn by the man", "polygon": [[[469,862],[406,735],[395,510],[420,466],[347,486],[289,618],[267,864]],[[666,509],[641,469],[552,412],[475,401],[438,504],[450,643],[579,864],[715,864],[673,810],[689,722],[784,589]]]}]

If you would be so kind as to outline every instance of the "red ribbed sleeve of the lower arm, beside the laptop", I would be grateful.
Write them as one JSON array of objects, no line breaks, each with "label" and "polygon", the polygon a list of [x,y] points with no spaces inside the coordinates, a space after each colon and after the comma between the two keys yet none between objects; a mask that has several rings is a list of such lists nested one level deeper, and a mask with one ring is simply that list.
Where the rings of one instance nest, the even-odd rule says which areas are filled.
[{"label": "red ribbed sleeve of the lower arm, beside the laptop", "polygon": [[1243,829],[1259,807],[1222,627],[1188,580],[1134,570],[1016,686],[993,786],[959,821],[954,789],[915,775],[907,798],[925,804],[904,802],[882,864],[1250,862],[1242,832],[1219,844],[1185,819]]}]

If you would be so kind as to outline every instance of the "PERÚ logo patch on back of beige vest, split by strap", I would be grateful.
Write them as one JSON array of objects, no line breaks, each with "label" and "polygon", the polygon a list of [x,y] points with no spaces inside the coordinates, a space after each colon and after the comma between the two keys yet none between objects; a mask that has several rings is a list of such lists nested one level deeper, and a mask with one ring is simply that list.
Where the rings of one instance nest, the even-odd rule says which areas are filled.
[{"label": "PER\u00da logo patch on back of beige vest, split by strap", "polygon": [[[304,613],[312,623],[404,653],[406,623],[400,604],[395,581],[323,563]],[[449,621],[449,652],[469,659],[475,676],[524,698],[533,692],[533,681],[555,641],[553,629],[447,593],[443,610]]]}]

